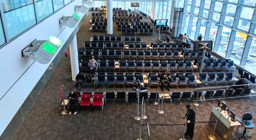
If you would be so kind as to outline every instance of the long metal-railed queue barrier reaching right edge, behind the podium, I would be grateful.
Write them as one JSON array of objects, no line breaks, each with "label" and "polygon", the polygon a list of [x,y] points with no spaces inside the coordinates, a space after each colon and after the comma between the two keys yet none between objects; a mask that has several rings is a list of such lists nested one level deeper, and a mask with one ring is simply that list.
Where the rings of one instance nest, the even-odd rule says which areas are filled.
[{"label": "long metal-railed queue barrier reaching right edge, behind the podium", "polygon": [[[199,92],[202,92],[202,91],[208,91],[208,90],[211,90],[211,91],[214,91],[214,90],[219,90],[219,89],[224,89],[224,95],[222,98],[214,98],[212,99],[211,96],[210,96],[210,99],[204,99],[204,100],[220,100],[222,99],[223,102],[225,102],[225,99],[230,99],[230,98],[239,98],[241,97],[241,100],[243,97],[251,97],[251,96],[256,96],[255,95],[245,95],[244,96],[244,92],[245,92],[245,89],[246,89],[246,86],[250,87],[252,85],[256,85],[256,84],[244,84],[244,85],[230,85],[230,86],[221,86],[221,87],[207,87],[207,88],[195,88],[195,92],[197,92],[197,96],[196,96],[196,100],[194,100],[195,98],[195,92],[193,94],[193,99],[192,99],[192,104],[194,106],[199,106],[199,103],[197,103],[197,101],[203,101],[203,100],[198,100],[198,95],[199,95]],[[228,94],[226,95],[226,91],[230,90],[230,89],[233,89],[235,87],[240,87],[240,86],[244,86],[244,89],[243,89],[243,92],[242,92],[242,96],[234,96],[234,97],[228,97]],[[195,103],[194,103],[195,102]]]}]

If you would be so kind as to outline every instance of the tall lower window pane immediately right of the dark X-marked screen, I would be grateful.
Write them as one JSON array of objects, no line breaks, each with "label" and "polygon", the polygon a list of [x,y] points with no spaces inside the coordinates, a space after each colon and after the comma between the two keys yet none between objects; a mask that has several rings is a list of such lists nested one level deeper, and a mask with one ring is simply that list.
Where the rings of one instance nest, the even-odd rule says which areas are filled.
[{"label": "tall lower window pane immediately right of the dark X-marked screen", "polygon": [[229,43],[231,29],[223,27],[221,33],[221,41],[219,42],[218,53],[225,57],[227,52],[227,44]]}]

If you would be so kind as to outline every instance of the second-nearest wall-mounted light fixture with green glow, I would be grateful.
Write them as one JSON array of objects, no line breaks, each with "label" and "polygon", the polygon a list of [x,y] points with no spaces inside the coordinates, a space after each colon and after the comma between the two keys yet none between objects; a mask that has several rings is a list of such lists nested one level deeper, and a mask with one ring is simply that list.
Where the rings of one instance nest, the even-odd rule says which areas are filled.
[{"label": "second-nearest wall-mounted light fixture with green glow", "polygon": [[80,16],[74,13],[72,16],[63,16],[59,19],[59,23],[66,25],[69,28],[74,28],[78,23]]}]

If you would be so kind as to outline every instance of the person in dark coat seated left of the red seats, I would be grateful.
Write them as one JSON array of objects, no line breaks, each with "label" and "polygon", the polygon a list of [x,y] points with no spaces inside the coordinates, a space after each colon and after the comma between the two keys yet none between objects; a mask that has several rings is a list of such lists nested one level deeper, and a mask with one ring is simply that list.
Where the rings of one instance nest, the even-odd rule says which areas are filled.
[{"label": "person in dark coat seated left of the red seats", "polygon": [[71,89],[70,93],[68,94],[68,102],[69,102],[69,115],[74,112],[74,115],[77,113],[77,96],[74,90]]}]

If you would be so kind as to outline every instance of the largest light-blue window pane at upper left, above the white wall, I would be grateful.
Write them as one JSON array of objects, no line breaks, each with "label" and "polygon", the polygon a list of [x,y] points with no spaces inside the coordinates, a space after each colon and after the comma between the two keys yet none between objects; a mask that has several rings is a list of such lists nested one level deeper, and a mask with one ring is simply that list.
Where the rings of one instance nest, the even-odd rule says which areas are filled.
[{"label": "largest light-blue window pane at upper left, above the white wall", "polygon": [[8,37],[12,39],[36,24],[34,4],[4,13],[4,19]]}]

